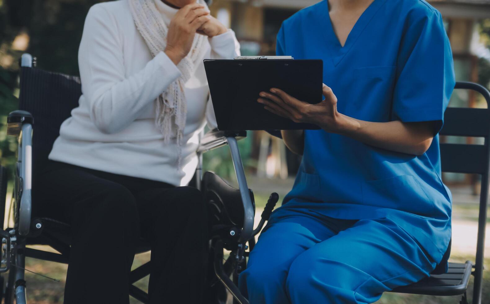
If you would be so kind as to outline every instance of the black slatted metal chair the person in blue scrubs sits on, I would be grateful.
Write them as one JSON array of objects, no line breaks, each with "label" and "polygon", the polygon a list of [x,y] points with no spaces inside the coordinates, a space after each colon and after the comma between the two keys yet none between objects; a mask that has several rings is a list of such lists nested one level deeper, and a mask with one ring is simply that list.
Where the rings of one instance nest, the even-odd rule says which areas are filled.
[{"label": "black slatted metal chair the person in blue scrubs sits on", "polygon": [[[483,86],[472,82],[458,82],[456,89],[476,91],[485,97],[490,105],[490,93]],[[479,174],[482,177],[480,208],[478,215],[478,235],[475,264],[449,263],[447,273],[432,275],[415,284],[399,287],[393,292],[434,296],[463,295],[462,304],[466,304],[466,289],[471,275],[473,283],[473,304],[482,303],[483,262],[485,250],[485,227],[487,224],[487,206],[489,198],[490,172],[490,110],[476,108],[447,108],[444,113],[444,126],[441,135],[483,137],[483,145],[441,143],[442,172]],[[474,269],[474,271],[472,271]]]}]

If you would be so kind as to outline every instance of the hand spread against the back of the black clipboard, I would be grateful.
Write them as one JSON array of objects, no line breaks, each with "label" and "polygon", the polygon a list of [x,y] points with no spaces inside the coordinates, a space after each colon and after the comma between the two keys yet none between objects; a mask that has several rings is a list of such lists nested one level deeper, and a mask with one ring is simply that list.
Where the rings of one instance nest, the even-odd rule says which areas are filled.
[{"label": "hand spread against the back of the black clipboard", "polygon": [[297,100],[277,88],[270,89],[270,92],[260,92],[259,95],[261,98],[257,101],[264,104],[266,110],[295,123],[314,124],[327,132],[339,132],[345,127],[346,117],[337,111],[337,97],[325,84],[325,100],[316,104]]}]

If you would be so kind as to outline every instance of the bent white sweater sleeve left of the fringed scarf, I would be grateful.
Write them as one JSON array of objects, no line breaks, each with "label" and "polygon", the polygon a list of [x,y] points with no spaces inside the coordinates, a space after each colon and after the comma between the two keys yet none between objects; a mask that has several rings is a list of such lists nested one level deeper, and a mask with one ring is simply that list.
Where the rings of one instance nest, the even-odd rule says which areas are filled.
[{"label": "bent white sweater sleeve left of the fringed scarf", "polygon": [[103,133],[117,133],[130,125],[181,75],[160,52],[141,71],[126,76],[121,33],[100,4],[89,10],[85,20],[78,64],[90,118]]}]

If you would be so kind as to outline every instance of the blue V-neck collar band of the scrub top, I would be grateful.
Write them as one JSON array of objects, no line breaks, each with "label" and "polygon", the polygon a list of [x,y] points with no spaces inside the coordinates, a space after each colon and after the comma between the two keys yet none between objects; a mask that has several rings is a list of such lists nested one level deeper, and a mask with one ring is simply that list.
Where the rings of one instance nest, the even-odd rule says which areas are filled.
[{"label": "blue V-neck collar band of the scrub top", "polygon": [[337,66],[343,59],[343,57],[350,51],[355,44],[361,33],[364,31],[369,22],[373,19],[374,15],[378,12],[379,8],[387,0],[374,0],[368,8],[361,14],[354,27],[352,27],[344,45],[340,44],[339,38],[335,34],[332,21],[330,20],[330,14],[328,10],[328,0],[323,0],[320,6],[320,31],[327,42],[327,49],[330,53],[330,58],[334,66]]}]

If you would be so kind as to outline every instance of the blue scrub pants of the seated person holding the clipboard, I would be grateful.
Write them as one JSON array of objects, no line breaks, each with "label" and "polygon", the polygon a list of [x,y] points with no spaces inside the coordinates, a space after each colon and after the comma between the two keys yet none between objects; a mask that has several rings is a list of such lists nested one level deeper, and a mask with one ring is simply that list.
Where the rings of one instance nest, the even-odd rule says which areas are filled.
[{"label": "blue scrub pants of the seated person holding the clipboard", "polygon": [[250,304],[373,303],[436,266],[389,219],[337,228],[329,219],[308,209],[272,214],[239,279]]}]

